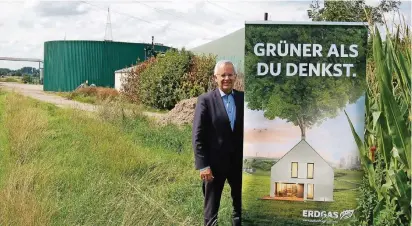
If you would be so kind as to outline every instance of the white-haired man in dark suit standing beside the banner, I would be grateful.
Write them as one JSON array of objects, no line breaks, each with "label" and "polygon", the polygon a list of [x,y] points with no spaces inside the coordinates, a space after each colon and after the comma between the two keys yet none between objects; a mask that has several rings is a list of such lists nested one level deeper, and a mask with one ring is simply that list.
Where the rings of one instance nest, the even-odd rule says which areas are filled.
[{"label": "white-haired man in dark suit standing beside the banner", "polygon": [[241,225],[243,99],[234,90],[232,62],[219,61],[214,70],[218,88],[198,97],[192,143],[196,169],[203,180],[204,224],[217,225],[222,190],[227,180],[233,203],[233,225]]}]

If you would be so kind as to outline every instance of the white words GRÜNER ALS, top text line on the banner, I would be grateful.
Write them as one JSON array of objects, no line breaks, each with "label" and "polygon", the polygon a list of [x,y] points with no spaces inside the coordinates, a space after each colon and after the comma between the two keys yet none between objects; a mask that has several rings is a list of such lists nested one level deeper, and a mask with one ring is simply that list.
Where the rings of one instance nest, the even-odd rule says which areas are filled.
[{"label": "white words GR\u00dcNER ALS, top text line on the banner", "polygon": [[[256,43],[253,51],[256,56],[299,56],[299,57],[322,57],[322,45],[320,44],[293,44],[286,41],[280,41],[278,44],[273,43]],[[345,45],[338,47],[332,44],[329,48],[327,57],[357,57],[358,45],[349,46],[349,54]]]}]

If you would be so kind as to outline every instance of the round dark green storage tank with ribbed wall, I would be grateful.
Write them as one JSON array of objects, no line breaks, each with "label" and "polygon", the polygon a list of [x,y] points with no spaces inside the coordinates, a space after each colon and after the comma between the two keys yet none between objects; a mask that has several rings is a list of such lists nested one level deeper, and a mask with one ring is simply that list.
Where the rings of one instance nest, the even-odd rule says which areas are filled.
[{"label": "round dark green storage tank with ribbed wall", "polygon": [[[73,91],[88,80],[114,87],[114,72],[144,60],[149,43],[112,41],[48,41],[44,43],[44,91]],[[155,45],[155,51],[170,47]]]}]

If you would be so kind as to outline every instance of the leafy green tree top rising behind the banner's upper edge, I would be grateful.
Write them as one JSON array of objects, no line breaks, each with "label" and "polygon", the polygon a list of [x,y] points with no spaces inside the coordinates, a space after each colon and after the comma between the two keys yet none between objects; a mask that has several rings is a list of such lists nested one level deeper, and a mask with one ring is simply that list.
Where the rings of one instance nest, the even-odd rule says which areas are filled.
[{"label": "leafy green tree top rising behind the banner's upper edge", "polygon": [[369,6],[365,0],[334,1],[325,0],[321,7],[319,0],[310,4],[308,16],[313,21],[368,22],[383,23],[384,13],[396,11],[399,0],[381,0],[376,7]]}]

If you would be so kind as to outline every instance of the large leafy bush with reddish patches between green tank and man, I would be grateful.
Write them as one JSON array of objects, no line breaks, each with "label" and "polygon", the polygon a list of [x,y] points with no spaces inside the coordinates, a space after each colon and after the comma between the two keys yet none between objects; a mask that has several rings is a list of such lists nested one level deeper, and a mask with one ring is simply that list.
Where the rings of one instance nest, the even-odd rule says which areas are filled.
[{"label": "large leafy bush with reddish patches between green tank and man", "polygon": [[[215,64],[214,56],[195,56],[184,49],[138,66],[126,85],[131,100],[157,109],[172,109],[179,101],[207,91]],[[133,96],[136,95],[137,97]]]}]

